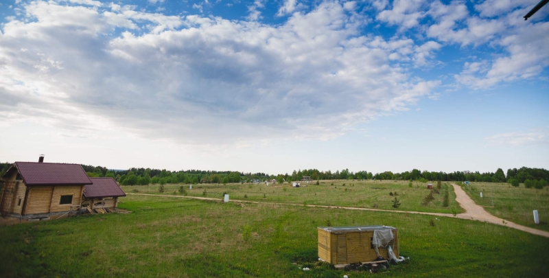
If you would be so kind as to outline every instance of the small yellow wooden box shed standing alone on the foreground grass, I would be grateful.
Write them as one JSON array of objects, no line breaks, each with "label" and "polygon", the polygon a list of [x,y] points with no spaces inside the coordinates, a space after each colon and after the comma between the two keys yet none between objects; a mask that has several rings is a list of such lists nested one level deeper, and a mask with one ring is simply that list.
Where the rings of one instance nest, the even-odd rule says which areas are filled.
[{"label": "small yellow wooden box shed standing alone on the foreground grass", "polygon": [[[384,237],[381,241],[380,236]],[[383,239],[386,242],[379,244]],[[394,227],[318,227],[318,257],[329,264],[373,262],[377,257],[388,259],[388,246],[399,257],[398,229]]]}]

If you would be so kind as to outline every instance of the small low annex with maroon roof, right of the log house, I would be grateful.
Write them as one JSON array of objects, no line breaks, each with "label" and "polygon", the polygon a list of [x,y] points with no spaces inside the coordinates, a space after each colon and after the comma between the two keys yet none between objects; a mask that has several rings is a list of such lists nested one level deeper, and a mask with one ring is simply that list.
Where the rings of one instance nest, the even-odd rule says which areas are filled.
[{"label": "small low annex with maroon roof, right of the log house", "polygon": [[126,196],[114,178],[90,178],[90,180],[92,184],[84,188],[83,209],[116,209],[118,197]]}]

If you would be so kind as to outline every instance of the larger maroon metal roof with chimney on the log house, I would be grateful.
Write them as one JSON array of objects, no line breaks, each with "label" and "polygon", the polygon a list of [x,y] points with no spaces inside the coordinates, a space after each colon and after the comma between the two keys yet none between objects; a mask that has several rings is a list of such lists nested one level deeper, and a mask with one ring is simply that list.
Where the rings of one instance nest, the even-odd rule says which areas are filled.
[{"label": "larger maroon metal roof with chimney on the log house", "polygon": [[16,162],[26,185],[90,185],[82,165],[65,163]]}]

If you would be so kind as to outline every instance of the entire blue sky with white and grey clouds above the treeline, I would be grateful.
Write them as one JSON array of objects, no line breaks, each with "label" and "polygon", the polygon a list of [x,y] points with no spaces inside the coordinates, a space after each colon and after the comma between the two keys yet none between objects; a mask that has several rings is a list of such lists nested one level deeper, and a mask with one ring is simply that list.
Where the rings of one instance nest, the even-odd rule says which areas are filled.
[{"label": "entire blue sky with white and grey clouds above the treeline", "polygon": [[0,161],[549,168],[538,0],[5,0]]}]

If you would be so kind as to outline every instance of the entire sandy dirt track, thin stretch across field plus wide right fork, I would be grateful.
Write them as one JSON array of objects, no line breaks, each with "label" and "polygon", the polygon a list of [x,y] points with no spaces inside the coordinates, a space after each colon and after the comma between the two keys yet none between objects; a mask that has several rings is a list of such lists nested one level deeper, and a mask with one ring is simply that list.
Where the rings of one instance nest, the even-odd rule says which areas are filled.
[{"label": "entire sandy dirt track, thin stretch across field plus wide right fork", "polygon": [[[393,213],[412,213],[412,214],[424,214],[428,216],[441,216],[441,217],[456,217],[456,218],[462,218],[467,220],[480,220],[485,222],[490,222],[493,224],[503,224],[503,220],[500,218],[497,218],[495,216],[492,216],[490,213],[487,213],[482,207],[479,205],[476,205],[467,194],[459,187],[458,185],[454,185],[454,191],[456,192],[456,201],[460,203],[460,205],[465,209],[465,213],[460,213],[456,216],[454,216],[451,213],[435,213],[435,212],[421,212],[421,211],[393,211],[390,209],[366,209],[364,207],[340,207],[340,206],[325,206],[325,205],[300,205],[300,204],[292,204],[287,202],[257,202],[257,201],[249,201],[249,200],[229,200],[230,202],[245,202],[245,203],[253,203],[253,204],[270,204],[270,205],[285,205],[285,206],[298,206],[298,207],[321,207],[325,209],[349,209],[349,210],[355,210],[355,211],[387,211],[387,212],[393,212]],[[174,196],[174,195],[158,195],[158,194],[139,194],[139,193],[126,193],[129,195],[139,195],[139,196],[163,196],[163,197],[172,197],[172,198],[190,198],[190,199],[198,199],[198,200],[215,200],[215,201],[222,201],[222,199],[219,198],[207,198],[207,197],[194,197],[194,196]],[[465,205],[464,205],[465,204]],[[549,232],[546,231],[540,231],[533,228],[528,228],[521,226],[519,224],[515,224],[513,222],[506,222],[506,226],[509,226],[514,229],[518,229],[521,231],[526,231],[528,233],[533,233],[534,235],[541,235],[546,238],[549,238]]]}]

